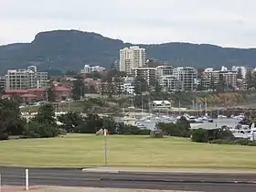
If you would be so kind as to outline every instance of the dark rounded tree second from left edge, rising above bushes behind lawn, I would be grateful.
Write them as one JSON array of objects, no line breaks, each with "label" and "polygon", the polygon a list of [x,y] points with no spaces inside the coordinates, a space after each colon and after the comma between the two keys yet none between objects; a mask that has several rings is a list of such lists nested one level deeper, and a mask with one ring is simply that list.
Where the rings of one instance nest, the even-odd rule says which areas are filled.
[{"label": "dark rounded tree second from left edge, rising above bushes behind lawn", "polygon": [[32,121],[57,126],[54,106],[51,104],[40,106],[37,115],[32,119]]}]

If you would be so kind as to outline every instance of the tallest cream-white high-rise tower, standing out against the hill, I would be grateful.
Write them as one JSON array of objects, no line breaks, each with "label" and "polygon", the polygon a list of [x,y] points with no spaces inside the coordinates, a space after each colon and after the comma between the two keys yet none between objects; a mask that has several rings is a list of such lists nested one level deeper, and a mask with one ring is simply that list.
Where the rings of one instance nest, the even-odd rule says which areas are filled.
[{"label": "tallest cream-white high-rise tower, standing out against the hill", "polygon": [[120,50],[119,70],[132,74],[133,68],[140,68],[145,65],[145,49],[133,46]]}]

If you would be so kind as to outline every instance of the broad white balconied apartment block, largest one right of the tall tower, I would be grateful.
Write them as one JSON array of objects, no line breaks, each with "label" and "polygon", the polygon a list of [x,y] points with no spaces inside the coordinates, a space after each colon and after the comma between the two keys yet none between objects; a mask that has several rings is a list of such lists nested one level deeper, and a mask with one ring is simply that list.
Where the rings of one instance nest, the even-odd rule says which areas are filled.
[{"label": "broad white balconied apartment block, largest one right of the tall tower", "polygon": [[192,67],[174,68],[174,77],[181,83],[181,90],[197,90],[197,69]]}]

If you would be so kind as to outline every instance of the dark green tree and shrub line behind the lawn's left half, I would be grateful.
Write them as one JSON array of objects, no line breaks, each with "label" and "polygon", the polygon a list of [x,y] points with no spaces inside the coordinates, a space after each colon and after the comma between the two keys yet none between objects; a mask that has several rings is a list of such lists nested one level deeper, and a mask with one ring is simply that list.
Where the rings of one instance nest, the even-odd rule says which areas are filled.
[{"label": "dark green tree and shrub line behind the lawn's left half", "polygon": [[56,117],[52,104],[40,106],[35,117],[24,119],[15,98],[0,99],[0,114],[0,140],[12,135],[48,138],[60,133],[96,133],[101,129],[108,129],[111,134],[149,134],[149,130],[116,123],[111,117],[100,117],[94,113],[82,116],[78,112],[68,112]]}]

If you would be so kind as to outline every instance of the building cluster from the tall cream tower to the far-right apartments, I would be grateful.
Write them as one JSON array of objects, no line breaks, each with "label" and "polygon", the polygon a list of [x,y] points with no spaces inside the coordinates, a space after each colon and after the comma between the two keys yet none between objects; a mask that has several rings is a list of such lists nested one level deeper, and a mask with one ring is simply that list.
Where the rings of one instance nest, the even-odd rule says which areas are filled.
[{"label": "building cluster from the tall cream tower to the far-right apartments", "polygon": [[149,85],[158,81],[165,91],[196,91],[201,84],[205,91],[217,87],[223,80],[230,90],[246,90],[247,68],[233,66],[220,70],[205,69],[201,74],[193,67],[172,67],[165,62],[149,60],[144,48],[130,47],[120,50],[119,70],[136,78],[142,77]]}]

